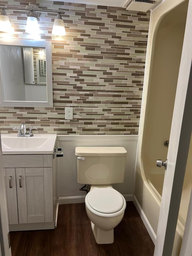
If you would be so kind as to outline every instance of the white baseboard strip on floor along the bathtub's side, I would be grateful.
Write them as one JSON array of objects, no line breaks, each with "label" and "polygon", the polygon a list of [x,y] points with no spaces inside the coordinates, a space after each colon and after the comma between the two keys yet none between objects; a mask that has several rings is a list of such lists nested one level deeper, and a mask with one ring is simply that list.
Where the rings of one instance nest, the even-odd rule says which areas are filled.
[{"label": "white baseboard strip on floor along the bathtub's side", "polygon": [[156,242],[156,234],[155,234],[154,230],[152,229],[151,224],[149,223],[145,213],[143,212],[143,210],[142,210],[142,208],[141,208],[141,206],[140,206],[140,204],[137,201],[137,198],[135,196],[134,196],[133,202],[134,202],[135,207],[137,208],[137,211],[139,212],[139,215],[140,215],[140,217],[141,217],[141,219],[142,219],[142,221],[143,221],[143,223],[144,223],[144,225],[145,225],[149,235],[151,236],[151,239],[152,239],[153,243],[155,244],[155,242]]}]

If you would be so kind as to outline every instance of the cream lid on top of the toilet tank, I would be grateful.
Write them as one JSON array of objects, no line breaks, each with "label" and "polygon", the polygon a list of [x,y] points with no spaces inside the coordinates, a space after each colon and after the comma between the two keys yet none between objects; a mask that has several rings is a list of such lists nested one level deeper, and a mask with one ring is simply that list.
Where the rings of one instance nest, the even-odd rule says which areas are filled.
[{"label": "cream lid on top of the toilet tank", "polygon": [[76,147],[77,156],[126,156],[124,147]]}]

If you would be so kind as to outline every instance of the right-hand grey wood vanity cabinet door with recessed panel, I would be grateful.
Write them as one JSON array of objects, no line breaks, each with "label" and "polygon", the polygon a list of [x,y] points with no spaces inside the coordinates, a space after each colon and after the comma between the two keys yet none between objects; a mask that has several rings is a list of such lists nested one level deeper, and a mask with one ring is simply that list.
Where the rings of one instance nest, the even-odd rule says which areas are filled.
[{"label": "right-hand grey wood vanity cabinet door with recessed panel", "polygon": [[[12,181],[15,182],[15,195],[17,197],[15,196],[14,199],[16,212],[18,205],[19,224],[52,222],[53,168],[9,168],[6,170],[14,171]],[[12,172],[7,173],[7,175],[13,175]],[[12,212],[10,210],[10,213]],[[18,223],[18,215],[17,222],[10,224]]]}]

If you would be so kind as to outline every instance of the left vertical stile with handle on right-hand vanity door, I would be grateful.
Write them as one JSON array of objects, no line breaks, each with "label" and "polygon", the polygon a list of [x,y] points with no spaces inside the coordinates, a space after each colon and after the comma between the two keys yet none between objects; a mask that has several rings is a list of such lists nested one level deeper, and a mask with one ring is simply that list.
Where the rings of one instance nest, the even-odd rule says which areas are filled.
[{"label": "left vertical stile with handle on right-hand vanity door", "polygon": [[16,168],[16,185],[19,224],[27,223],[27,194],[25,168]]}]

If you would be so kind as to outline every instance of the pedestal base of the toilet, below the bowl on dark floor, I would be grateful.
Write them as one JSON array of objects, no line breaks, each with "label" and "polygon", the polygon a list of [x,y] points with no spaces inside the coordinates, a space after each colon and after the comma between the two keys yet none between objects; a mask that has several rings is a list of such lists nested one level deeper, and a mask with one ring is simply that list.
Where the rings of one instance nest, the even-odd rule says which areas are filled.
[{"label": "pedestal base of the toilet, below the bowl on dark floor", "polygon": [[91,222],[91,228],[98,244],[112,244],[114,242],[113,229],[104,230]]}]

